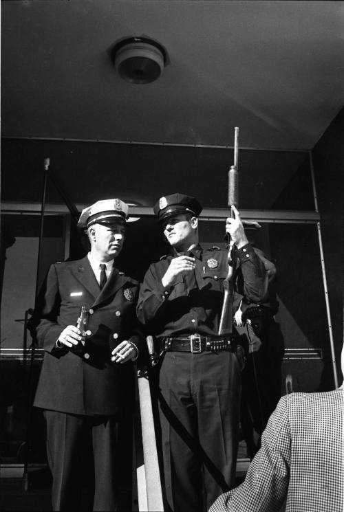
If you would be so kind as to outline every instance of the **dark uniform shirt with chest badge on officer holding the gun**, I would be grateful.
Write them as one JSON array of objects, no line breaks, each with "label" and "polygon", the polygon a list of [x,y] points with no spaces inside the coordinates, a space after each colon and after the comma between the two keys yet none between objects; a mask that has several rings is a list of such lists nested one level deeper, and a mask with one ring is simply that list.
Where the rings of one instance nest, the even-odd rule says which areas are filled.
[{"label": "dark uniform shirt with chest badge on officer holding the gun", "polygon": [[[180,274],[173,287],[162,286],[162,276],[176,255],[163,256],[153,263],[144,276],[138,300],[138,318],[148,331],[158,337],[200,333],[217,335],[224,299],[223,281],[228,273],[228,252],[197,245],[191,251],[195,257],[194,276]],[[250,244],[236,249],[239,271],[235,282],[236,300],[264,299],[264,265]],[[235,307],[234,307],[235,310]]]}]

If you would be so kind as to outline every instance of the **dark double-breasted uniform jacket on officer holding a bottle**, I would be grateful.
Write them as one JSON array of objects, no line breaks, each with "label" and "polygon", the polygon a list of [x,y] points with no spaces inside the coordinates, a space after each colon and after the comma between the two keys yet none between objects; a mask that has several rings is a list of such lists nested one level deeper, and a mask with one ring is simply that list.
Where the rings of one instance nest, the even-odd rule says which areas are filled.
[{"label": "dark double-breasted uniform jacket on officer holding a bottle", "polygon": [[[47,274],[41,305],[30,330],[45,349],[34,405],[72,414],[118,412],[132,364],[111,362],[111,350],[123,340],[140,344],[135,306],[138,282],[115,267],[100,291],[87,257],[56,263]],[[56,348],[67,325],[75,325],[80,307],[89,309],[85,346]],[[114,339],[113,335],[118,337]]]}]

